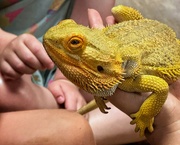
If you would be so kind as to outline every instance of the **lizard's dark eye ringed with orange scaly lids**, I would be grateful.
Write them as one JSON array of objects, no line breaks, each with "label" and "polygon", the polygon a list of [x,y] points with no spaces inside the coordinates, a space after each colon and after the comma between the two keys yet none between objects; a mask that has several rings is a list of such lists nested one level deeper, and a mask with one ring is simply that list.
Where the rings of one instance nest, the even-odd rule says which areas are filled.
[{"label": "lizard's dark eye ringed with orange scaly lids", "polygon": [[71,37],[68,41],[68,46],[71,51],[77,52],[82,49],[83,45],[83,39],[77,36]]}]

